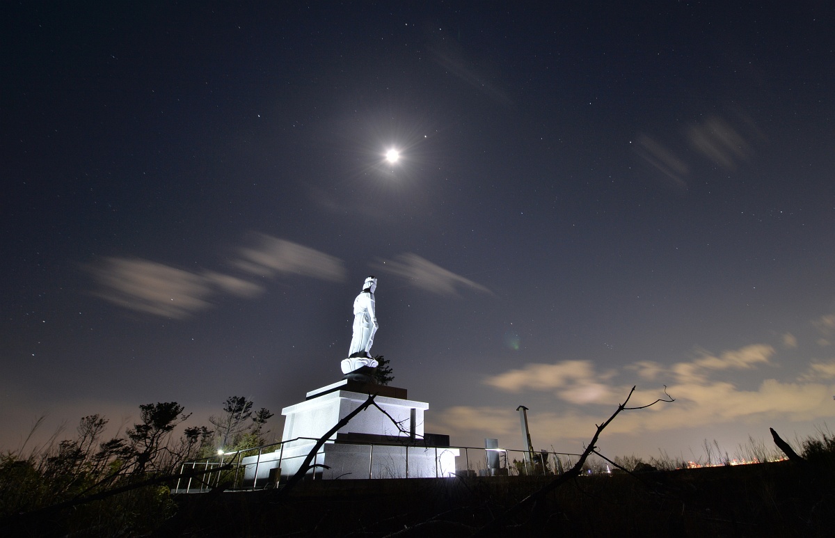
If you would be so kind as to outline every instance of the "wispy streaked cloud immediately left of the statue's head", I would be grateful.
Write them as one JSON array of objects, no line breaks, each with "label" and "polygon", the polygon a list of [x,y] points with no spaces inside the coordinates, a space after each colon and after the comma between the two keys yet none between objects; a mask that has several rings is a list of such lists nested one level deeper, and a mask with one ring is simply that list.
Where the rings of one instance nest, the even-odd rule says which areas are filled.
[{"label": "wispy streaked cloud immediately left of the statue's head", "polygon": [[240,259],[233,265],[260,277],[295,274],[331,282],[345,280],[345,267],[337,257],[265,234],[257,234],[256,243],[240,249]]}]

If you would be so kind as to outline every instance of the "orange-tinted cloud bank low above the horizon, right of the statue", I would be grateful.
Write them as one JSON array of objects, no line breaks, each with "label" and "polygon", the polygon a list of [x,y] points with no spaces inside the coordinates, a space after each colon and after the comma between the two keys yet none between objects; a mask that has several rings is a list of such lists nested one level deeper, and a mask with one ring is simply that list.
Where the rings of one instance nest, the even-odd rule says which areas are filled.
[{"label": "orange-tinted cloud bank low above the horizon, right of the statue", "polygon": [[[554,390],[559,398],[572,403],[559,413],[529,413],[531,430],[557,432],[559,439],[585,441],[594,433],[594,424],[615,411],[634,384],[634,373],[663,383],[676,401],[658,403],[640,411],[620,414],[606,429],[607,434],[640,434],[681,428],[711,428],[718,424],[758,419],[815,420],[832,418],[832,391],[835,390],[835,361],[815,362],[792,381],[761,378],[756,387],[741,388],[736,383],[716,378],[728,370],[756,370],[773,364],[776,352],[767,344],[752,344],[719,354],[702,353],[690,362],[665,367],[640,361],[622,372],[595,373],[589,361],[564,361],[555,364],[529,364],[509,370],[484,383],[494,388],[520,393],[524,390]],[[622,379],[621,383],[617,383]],[[593,391],[600,389],[599,394]],[[636,390],[630,406],[665,398],[664,388]],[[590,407],[590,404],[593,404]],[[603,404],[601,406],[600,404]],[[605,406],[611,406],[606,409]],[[482,431],[490,437],[519,435],[519,424],[512,409],[457,406],[442,413],[445,427],[462,431]],[[547,435],[547,434],[546,434]]]}]

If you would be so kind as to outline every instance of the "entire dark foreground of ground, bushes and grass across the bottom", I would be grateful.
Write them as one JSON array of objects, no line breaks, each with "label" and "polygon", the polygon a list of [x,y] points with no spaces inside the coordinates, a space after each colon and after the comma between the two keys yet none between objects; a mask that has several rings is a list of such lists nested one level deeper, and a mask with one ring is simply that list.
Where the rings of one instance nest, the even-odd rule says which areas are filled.
[{"label": "entire dark foreground of ground, bushes and grass across the bottom", "polygon": [[[677,469],[683,462],[665,454],[648,462],[608,459],[595,447],[600,432],[621,411],[646,407],[627,408],[628,401],[561,475],[291,480],[247,493],[225,493],[221,479],[211,480],[220,487],[199,495],[170,495],[178,478],[194,477],[178,475],[180,463],[220,444],[245,449],[263,442],[269,411],[256,413],[245,398],[231,397],[224,414],[212,417],[216,430],[190,427],[175,438],[189,415],[177,403],[147,404],[140,406],[141,422],[104,442],[107,421],[92,415],[81,420],[75,439],[25,456],[22,450],[0,455],[0,535],[831,534],[835,435],[820,431],[797,443],[799,455],[781,446],[792,460],[753,465],[731,466],[718,446],[706,449],[702,463],[725,465],[705,469]],[[373,398],[364,405],[374,405]],[[777,451],[751,439],[741,454],[766,462]],[[604,466],[614,472],[586,475]],[[217,467],[220,475],[213,476],[228,469]]]}]

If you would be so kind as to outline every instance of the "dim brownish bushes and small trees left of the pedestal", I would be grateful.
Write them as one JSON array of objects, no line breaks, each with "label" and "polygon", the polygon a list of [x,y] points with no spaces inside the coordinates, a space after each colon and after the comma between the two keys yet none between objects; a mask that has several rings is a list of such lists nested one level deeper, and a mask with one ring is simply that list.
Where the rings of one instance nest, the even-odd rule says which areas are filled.
[{"label": "dim brownish bushes and small trees left of the pedestal", "polygon": [[230,397],[224,414],[210,418],[216,430],[191,426],[175,438],[190,414],[176,402],[148,403],[123,436],[104,441],[108,420],[94,414],[80,420],[74,439],[0,454],[0,535],[148,535],[175,515],[170,485],[183,462],[220,443],[264,444],[271,413],[251,408]]}]

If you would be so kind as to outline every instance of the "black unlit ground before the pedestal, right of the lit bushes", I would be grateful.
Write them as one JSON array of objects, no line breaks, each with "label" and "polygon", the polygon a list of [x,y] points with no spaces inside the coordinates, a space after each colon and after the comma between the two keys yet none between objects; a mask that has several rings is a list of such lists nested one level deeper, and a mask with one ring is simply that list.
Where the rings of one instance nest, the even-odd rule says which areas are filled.
[{"label": "black unlit ground before the pedestal, right of the lit bushes", "polygon": [[792,462],[593,475],[520,510],[514,506],[551,479],[306,481],[285,502],[276,502],[275,490],[180,495],[165,530],[195,537],[828,537],[832,478],[805,475]]}]

